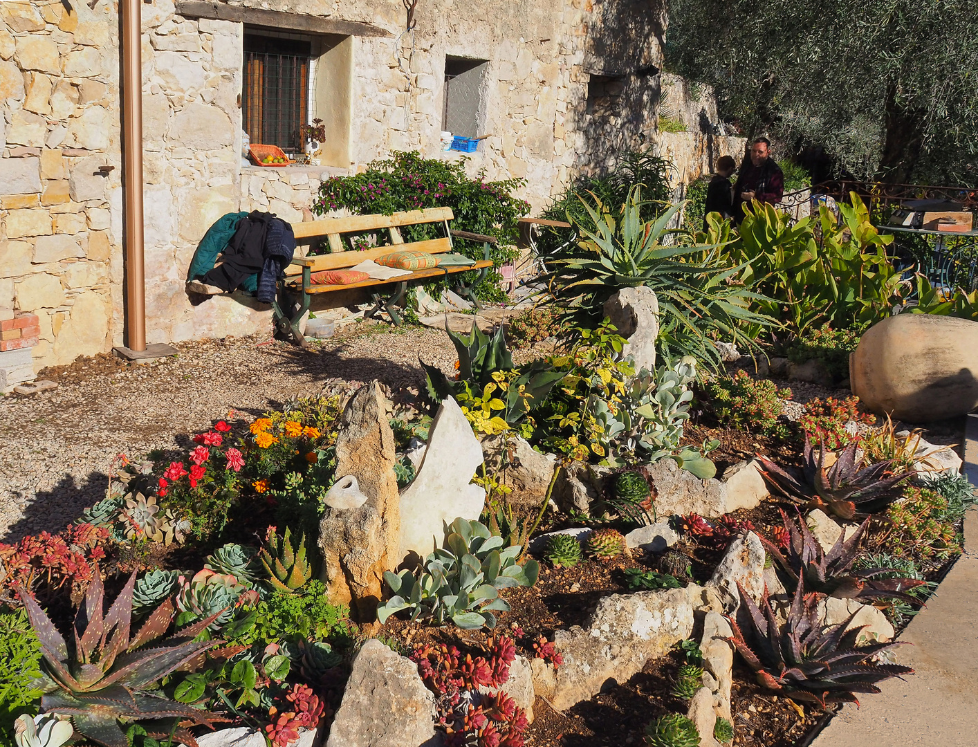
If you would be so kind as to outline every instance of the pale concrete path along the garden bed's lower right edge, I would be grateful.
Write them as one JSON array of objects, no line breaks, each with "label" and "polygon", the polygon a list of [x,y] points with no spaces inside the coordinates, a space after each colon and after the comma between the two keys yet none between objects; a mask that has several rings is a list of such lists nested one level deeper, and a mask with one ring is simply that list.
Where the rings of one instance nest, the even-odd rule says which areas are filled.
[{"label": "pale concrete path along the garden bed's lower right edge", "polygon": [[[978,414],[967,418],[965,474],[978,485]],[[813,747],[978,745],[978,511],[964,522],[964,553],[904,631],[897,659],[916,674],[847,705]]]}]

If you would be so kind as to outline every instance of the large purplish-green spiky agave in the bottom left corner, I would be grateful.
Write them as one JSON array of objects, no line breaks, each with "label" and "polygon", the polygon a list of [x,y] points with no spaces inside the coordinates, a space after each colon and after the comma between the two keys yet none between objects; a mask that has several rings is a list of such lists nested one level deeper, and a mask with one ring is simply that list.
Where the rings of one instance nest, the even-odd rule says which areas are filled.
[{"label": "large purplish-green spiky agave in the bottom left corner", "polygon": [[[178,630],[173,636],[156,640],[173,620],[173,603],[167,598],[147,618],[135,636],[131,635],[132,598],[136,574],[129,577],[108,611],[101,573],[95,573],[74,622],[69,647],[66,639],[34,598],[21,588],[27,618],[41,643],[41,708],[68,716],[85,737],[106,747],[128,747],[118,721],[156,719],[190,720],[212,726],[219,717],[206,711],[149,695],[157,681],[188,664],[219,641],[195,641],[215,616]],[[156,641],[152,646],[147,644]],[[194,745],[186,729],[176,736]]]}]

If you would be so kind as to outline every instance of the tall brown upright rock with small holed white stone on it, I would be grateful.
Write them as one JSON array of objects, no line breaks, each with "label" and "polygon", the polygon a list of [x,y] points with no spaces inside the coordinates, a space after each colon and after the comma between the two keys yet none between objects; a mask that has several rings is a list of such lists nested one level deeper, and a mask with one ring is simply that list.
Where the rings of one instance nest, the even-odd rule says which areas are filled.
[{"label": "tall brown upright rock with small holed white stone on it", "polygon": [[356,508],[327,507],[319,527],[327,593],[334,604],[350,603],[361,621],[373,619],[383,572],[393,569],[400,536],[394,433],[378,381],[362,386],[343,411],[336,437],[336,474],[352,475],[367,502]]}]

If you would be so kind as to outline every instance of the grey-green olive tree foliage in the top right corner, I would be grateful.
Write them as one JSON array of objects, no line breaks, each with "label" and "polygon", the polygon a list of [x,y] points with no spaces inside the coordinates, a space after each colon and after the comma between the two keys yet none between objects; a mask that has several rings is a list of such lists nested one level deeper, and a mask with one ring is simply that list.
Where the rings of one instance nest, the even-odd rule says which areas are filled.
[{"label": "grey-green olive tree foliage in the top right corner", "polygon": [[669,16],[669,65],[748,135],[822,146],[860,177],[974,182],[974,3],[670,0]]}]

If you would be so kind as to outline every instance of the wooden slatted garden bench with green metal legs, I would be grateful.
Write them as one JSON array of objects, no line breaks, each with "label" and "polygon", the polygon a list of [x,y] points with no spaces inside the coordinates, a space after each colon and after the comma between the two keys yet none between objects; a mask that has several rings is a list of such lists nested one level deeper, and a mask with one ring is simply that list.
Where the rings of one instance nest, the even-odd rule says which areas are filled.
[{"label": "wooden slatted garden bench with green metal legs", "polygon": [[[476,307],[481,308],[475,298],[473,288],[485,279],[489,268],[492,267],[489,249],[492,244],[496,243],[496,239],[482,234],[452,230],[449,227],[449,221],[454,217],[451,207],[428,207],[423,210],[397,212],[392,215],[351,215],[346,218],[326,218],[294,224],[292,232],[295,235],[297,245],[317,243],[326,239],[329,243],[330,253],[306,257],[296,256],[292,259],[291,264],[286,268],[286,277],[279,281],[278,298],[273,304],[276,329],[300,345],[305,344],[305,340],[299,331],[299,320],[309,310],[312,296],[351,288],[368,288],[371,300],[374,302],[374,308],[364,315],[366,318],[375,317],[382,309],[390,315],[395,325],[400,326],[401,317],[395,307],[403,299],[408,284],[441,278],[447,280],[449,275],[471,270],[478,271],[475,280],[470,283],[463,283],[462,277],[458,276],[458,282],[453,289],[459,295],[471,300]],[[401,236],[401,227],[417,226],[423,223],[441,224],[444,236],[440,239],[422,242],[405,242]],[[362,234],[373,231],[389,232],[390,245],[362,251],[348,249],[344,245],[344,234]],[[426,251],[429,254],[450,252],[454,248],[453,238],[482,242],[483,258],[472,261],[469,265],[432,267],[426,270],[416,270],[410,275],[400,275],[386,280],[371,278],[361,283],[352,283],[346,286],[312,285],[313,273],[350,268],[366,259],[376,259],[391,251]],[[382,291],[386,291],[386,294],[382,295]]]}]

